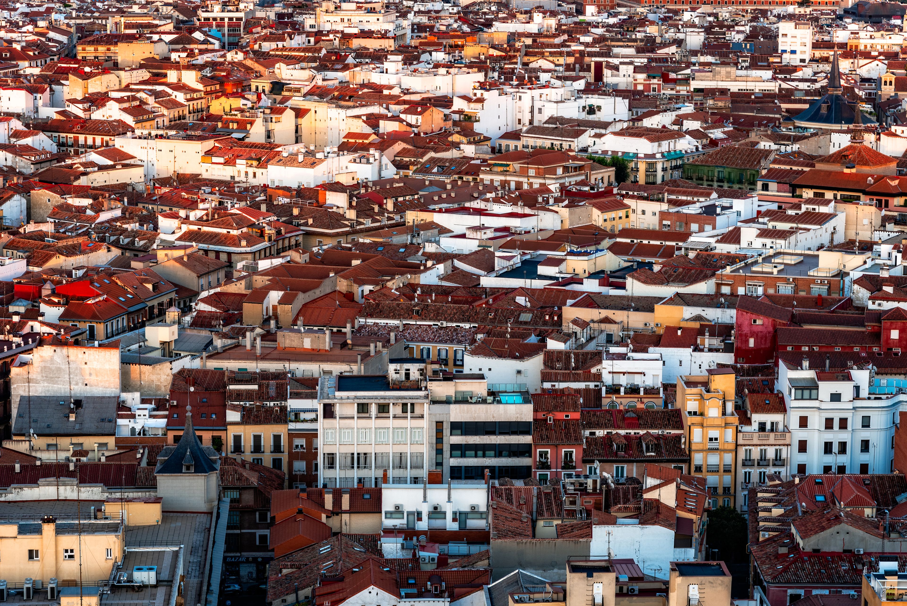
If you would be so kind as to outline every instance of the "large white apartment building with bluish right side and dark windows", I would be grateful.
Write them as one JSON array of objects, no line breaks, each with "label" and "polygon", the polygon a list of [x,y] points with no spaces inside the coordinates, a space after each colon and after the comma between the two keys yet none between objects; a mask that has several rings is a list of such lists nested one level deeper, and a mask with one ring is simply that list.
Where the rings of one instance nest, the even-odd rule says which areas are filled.
[{"label": "large white apartment building with bluish right side and dark windows", "polygon": [[871,368],[778,364],[791,418],[791,474],[890,474],[902,395],[868,396]]}]

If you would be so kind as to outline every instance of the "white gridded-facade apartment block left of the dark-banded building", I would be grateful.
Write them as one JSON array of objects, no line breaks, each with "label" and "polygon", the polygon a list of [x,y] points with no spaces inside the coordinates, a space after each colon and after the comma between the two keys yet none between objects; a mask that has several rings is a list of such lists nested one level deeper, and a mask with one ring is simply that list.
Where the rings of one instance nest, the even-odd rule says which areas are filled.
[{"label": "white gridded-facade apartment block left of the dark-banded building", "polygon": [[318,384],[321,483],[328,488],[422,484],[428,454],[428,402],[421,378],[322,376]]}]

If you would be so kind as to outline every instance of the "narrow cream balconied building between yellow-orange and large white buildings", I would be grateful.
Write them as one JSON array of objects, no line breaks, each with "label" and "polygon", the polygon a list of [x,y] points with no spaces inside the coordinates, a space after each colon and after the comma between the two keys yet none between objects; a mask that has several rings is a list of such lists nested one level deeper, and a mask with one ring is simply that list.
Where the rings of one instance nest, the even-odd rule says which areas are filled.
[{"label": "narrow cream balconied building between yellow-orange and large white buildings", "polygon": [[791,435],[787,428],[787,408],[780,394],[746,394],[744,407],[736,410],[737,477],[740,478],[737,503],[747,513],[749,489],[764,486],[769,474],[787,479]]}]

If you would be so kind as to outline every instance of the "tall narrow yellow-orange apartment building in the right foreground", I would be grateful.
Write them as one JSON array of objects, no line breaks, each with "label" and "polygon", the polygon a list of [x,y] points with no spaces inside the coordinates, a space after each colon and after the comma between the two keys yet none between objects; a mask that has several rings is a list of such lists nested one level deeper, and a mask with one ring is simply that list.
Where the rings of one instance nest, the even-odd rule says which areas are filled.
[{"label": "tall narrow yellow-orange apartment building in the right foreground", "polygon": [[730,368],[678,376],[677,406],[687,427],[692,473],[706,478],[712,508],[734,507],[739,419],[734,410],[735,375]]}]

